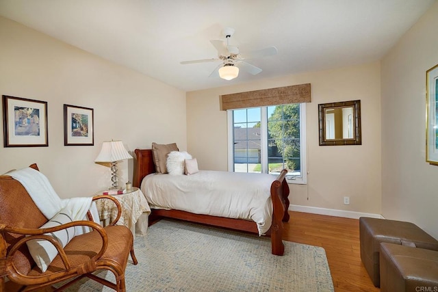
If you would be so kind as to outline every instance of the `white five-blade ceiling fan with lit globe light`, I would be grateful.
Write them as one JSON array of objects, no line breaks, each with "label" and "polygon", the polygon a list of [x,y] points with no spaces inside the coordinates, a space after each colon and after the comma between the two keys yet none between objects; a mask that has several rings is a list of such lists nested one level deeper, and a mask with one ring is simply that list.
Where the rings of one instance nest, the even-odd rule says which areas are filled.
[{"label": "white five-blade ceiling fan with lit globe light", "polygon": [[239,69],[245,70],[252,75],[257,75],[261,72],[261,68],[245,62],[245,59],[255,59],[259,57],[266,57],[276,55],[278,53],[276,47],[267,47],[265,49],[252,51],[249,53],[240,53],[239,48],[232,46],[229,43],[231,36],[234,34],[234,29],[226,27],[223,29],[226,41],[224,40],[210,40],[211,44],[218,50],[218,57],[211,59],[197,59],[193,61],[183,61],[181,64],[194,64],[204,62],[222,61],[218,67],[211,72],[210,77],[219,76],[222,79],[231,80],[239,75]]}]

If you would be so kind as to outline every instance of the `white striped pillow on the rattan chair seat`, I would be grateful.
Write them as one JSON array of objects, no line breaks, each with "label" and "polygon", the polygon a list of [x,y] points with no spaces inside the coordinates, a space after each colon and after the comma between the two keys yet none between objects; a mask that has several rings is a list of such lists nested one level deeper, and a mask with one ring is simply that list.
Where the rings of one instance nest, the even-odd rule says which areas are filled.
[{"label": "white striped pillow on the rattan chair seat", "polygon": [[[73,215],[71,214],[71,212],[68,211],[68,209],[64,208],[55,216],[53,216],[53,218],[49,220],[49,222],[42,225],[40,229],[59,226],[68,222],[72,222],[72,218]],[[70,240],[73,239],[73,237],[75,236],[75,227],[59,230],[54,233],[46,233],[46,235],[51,235],[53,238],[57,239],[57,241],[64,248],[64,246],[66,246],[67,243],[70,242]],[[29,252],[32,258],[34,258],[36,265],[38,265],[38,267],[44,273],[44,271],[47,270],[47,267],[49,267],[50,263],[53,261],[53,258],[57,256],[57,249],[55,248],[55,245],[44,239],[32,239],[26,241],[26,243],[27,248],[29,248]]]}]

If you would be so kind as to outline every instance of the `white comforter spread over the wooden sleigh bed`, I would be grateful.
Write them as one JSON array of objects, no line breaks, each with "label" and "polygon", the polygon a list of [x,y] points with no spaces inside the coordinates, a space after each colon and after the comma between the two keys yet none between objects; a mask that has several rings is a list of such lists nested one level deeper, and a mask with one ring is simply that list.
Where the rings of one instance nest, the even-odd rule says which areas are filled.
[{"label": "white comforter spread over the wooden sleigh bed", "polygon": [[190,176],[149,174],[141,189],[151,208],[253,220],[263,235],[272,224],[270,186],[275,178],[214,170]]}]

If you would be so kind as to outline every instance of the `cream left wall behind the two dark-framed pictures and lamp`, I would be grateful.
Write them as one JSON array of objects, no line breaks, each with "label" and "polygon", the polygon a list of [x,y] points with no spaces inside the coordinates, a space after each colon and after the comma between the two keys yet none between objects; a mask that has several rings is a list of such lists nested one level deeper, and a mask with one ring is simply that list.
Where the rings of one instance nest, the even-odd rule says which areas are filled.
[{"label": "cream left wall behind the two dark-framed pictures and lamp", "polygon": [[[90,196],[110,182],[109,168],[93,162],[103,141],[122,140],[129,152],[152,142],[186,148],[185,92],[1,17],[0,44],[0,93],[47,101],[49,116],[49,147],[2,141],[0,174],[36,162],[62,198]],[[64,146],[64,104],[94,109],[94,146]],[[121,183],[132,170],[132,159],[120,163]]]}]

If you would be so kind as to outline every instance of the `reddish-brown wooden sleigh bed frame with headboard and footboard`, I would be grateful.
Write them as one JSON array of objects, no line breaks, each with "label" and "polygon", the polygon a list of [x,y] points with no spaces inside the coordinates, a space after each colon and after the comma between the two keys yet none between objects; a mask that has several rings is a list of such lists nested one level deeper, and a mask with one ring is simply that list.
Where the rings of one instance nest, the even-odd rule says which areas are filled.
[{"label": "reddish-brown wooden sleigh bed frame with headboard and footboard", "polygon": [[[143,179],[146,176],[149,178],[149,176],[153,176],[155,173],[153,152],[151,149],[136,149],[135,153],[136,166],[133,174],[133,186],[142,187]],[[272,183],[270,183],[270,186],[267,186],[267,189],[270,192],[270,202],[272,202],[272,223],[270,224],[270,227],[267,226],[268,230],[266,235],[270,236],[271,239],[272,254],[279,256],[284,254],[283,222],[289,221],[289,213],[287,213],[287,208],[289,207],[289,186],[285,179],[286,174],[287,170],[281,171],[279,176],[271,180]],[[160,178],[164,178],[166,175],[168,174],[156,174],[156,176]],[[193,176],[196,176],[196,174]],[[142,191],[147,193],[147,190],[143,189]],[[147,199],[146,194],[145,196]],[[153,206],[151,206],[151,210],[152,212],[149,217],[149,222],[168,217],[221,228],[231,228],[233,230],[241,230],[249,233],[260,233],[260,226],[251,220],[221,217],[217,215],[205,215],[177,209],[155,209]]]}]

